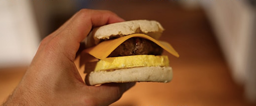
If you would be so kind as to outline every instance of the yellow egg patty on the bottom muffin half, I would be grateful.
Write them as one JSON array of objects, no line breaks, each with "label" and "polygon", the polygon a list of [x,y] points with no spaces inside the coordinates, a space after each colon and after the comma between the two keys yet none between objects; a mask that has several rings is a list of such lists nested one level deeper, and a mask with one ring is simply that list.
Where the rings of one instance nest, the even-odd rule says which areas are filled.
[{"label": "yellow egg patty on the bottom muffin half", "polygon": [[167,55],[131,55],[108,57],[103,60],[99,60],[95,65],[94,71],[115,70],[141,66],[169,66],[169,59]]}]

